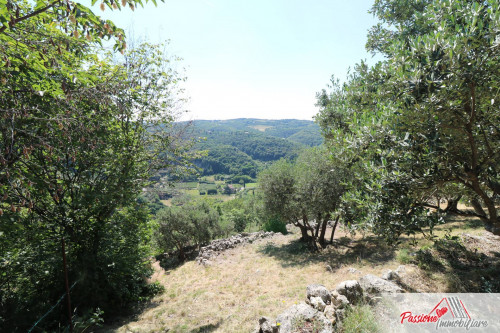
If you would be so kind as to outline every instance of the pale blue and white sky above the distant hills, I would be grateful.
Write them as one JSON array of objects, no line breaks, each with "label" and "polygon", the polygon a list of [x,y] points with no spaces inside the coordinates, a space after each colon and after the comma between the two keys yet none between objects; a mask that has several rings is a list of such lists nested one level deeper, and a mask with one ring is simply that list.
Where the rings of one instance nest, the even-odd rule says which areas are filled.
[{"label": "pale blue and white sky above the distant hills", "polygon": [[[82,1],[88,5],[90,0]],[[373,0],[165,0],[93,11],[183,58],[185,119],[306,119],[316,93],[366,52]]]}]

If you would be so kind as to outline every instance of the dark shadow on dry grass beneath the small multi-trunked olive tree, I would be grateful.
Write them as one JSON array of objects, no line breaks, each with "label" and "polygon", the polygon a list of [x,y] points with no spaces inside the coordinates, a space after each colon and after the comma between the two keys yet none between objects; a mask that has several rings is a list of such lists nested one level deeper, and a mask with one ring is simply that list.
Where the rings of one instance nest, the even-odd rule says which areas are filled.
[{"label": "dark shadow on dry grass beneath the small multi-trunked olive tree", "polygon": [[288,244],[268,243],[258,252],[280,261],[282,267],[307,266],[323,262],[332,269],[355,263],[382,264],[395,258],[395,248],[375,236],[362,239],[342,237],[319,252],[309,243],[293,240]]}]

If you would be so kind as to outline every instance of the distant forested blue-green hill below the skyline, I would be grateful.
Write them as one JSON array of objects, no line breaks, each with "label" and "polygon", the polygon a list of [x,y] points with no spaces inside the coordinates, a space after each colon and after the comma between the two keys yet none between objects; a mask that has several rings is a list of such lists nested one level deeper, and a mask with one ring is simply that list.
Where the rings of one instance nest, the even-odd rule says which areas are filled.
[{"label": "distant forested blue-green hill below the skyline", "polygon": [[196,161],[204,175],[255,177],[265,164],[293,159],[304,147],[323,142],[316,123],[296,119],[195,120],[190,132],[206,138],[195,146],[208,151],[208,156]]}]

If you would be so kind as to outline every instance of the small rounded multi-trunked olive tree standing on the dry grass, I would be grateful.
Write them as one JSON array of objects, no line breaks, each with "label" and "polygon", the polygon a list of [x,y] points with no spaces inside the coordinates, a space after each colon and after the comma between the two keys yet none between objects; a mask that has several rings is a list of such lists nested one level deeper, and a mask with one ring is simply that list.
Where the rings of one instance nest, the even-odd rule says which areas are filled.
[{"label": "small rounded multi-trunked olive tree standing on the dry grass", "polygon": [[[327,224],[339,208],[344,187],[341,169],[325,149],[303,151],[295,163],[275,163],[259,175],[259,188],[269,220],[293,223],[300,228],[303,240],[318,240],[326,246]],[[313,219],[315,230],[309,223]]]}]

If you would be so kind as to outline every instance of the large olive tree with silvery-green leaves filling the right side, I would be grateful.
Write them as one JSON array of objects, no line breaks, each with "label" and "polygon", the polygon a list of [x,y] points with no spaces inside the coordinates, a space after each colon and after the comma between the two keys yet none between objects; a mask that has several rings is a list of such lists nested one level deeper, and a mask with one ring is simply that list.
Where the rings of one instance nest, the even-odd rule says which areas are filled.
[{"label": "large olive tree with silvery-green leaves filling the right side", "polygon": [[[498,1],[375,1],[381,23],[344,85],[318,95],[330,149],[361,182],[350,198],[361,216],[395,240],[439,222],[436,191],[468,194],[499,233]],[[438,212],[439,213],[439,212]]]}]

